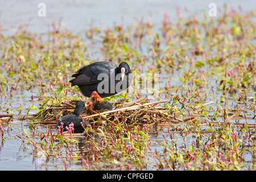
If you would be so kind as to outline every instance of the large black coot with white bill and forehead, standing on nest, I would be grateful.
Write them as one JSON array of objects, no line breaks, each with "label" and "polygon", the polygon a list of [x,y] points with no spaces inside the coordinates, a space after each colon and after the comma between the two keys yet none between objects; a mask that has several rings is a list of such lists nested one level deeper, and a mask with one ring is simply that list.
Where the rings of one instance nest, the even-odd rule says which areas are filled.
[{"label": "large black coot with white bill and forehead, standing on nest", "polygon": [[129,88],[133,73],[125,62],[98,61],[80,68],[72,77],[71,86],[79,86],[84,96],[90,97],[95,90],[101,97],[109,97]]}]

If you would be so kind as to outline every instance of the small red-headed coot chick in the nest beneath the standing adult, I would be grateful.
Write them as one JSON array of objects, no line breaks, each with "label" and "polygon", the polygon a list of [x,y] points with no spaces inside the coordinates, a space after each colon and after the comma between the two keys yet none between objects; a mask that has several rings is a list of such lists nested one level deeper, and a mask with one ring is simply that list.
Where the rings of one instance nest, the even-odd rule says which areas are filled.
[{"label": "small red-headed coot chick in the nest beneath the standing adult", "polygon": [[113,110],[112,104],[110,104],[108,101],[102,101],[101,96],[99,96],[96,91],[93,91],[91,99],[93,101],[93,110]]}]

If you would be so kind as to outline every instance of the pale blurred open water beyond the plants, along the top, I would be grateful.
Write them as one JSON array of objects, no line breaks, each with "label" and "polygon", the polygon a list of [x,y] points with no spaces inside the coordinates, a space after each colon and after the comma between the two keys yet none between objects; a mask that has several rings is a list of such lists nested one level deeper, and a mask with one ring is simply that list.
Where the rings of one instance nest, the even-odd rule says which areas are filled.
[{"label": "pale blurred open water beyond the plants, along the top", "polygon": [[[3,30],[16,28],[20,24],[27,26],[31,32],[47,32],[48,25],[57,24],[61,20],[61,26],[72,32],[82,32],[86,30],[92,23],[93,26],[111,27],[114,23],[129,25],[135,20],[144,18],[148,20],[152,18],[154,26],[159,25],[163,18],[164,11],[170,15],[171,19],[175,19],[176,7],[180,9],[180,14],[185,18],[192,14],[198,13],[203,15],[202,10],[208,12],[209,4],[213,1],[43,1],[46,4],[46,17],[38,16],[38,4],[42,2],[36,1],[1,1],[0,13]],[[217,9],[222,9],[224,4],[228,7],[233,6],[234,9],[242,11],[255,9],[255,1],[214,1]],[[9,32],[10,34],[12,32]]]}]

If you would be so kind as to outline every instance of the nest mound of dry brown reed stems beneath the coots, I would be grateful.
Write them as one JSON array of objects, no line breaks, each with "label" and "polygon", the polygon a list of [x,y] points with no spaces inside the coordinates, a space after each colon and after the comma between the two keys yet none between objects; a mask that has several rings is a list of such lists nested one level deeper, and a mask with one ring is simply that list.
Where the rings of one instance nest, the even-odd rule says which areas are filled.
[{"label": "nest mound of dry brown reed stems beneath the coots", "polygon": [[[63,100],[58,105],[51,105],[41,110],[39,113],[33,115],[35,119],[39,119],[42,125],[56,125],[57,119],[63,117],[66,114],[73,113],[78,100]],[[94,111],[86,108],[81,116],[87,119],[90,123],[99,126],[104,122],[110,123],[110,125],[117,126],[118,123],[121,125],[130,126],[136,125],[154,125],[155,123],[161,122],[168,118],[168,114],[164,113],[166,107],[160,107],[159,105],[167,102],[156,101],[148,102],[141,98],[137,101],[124,101],[119,100],[113,103],[114,110],[99,110]]]}]

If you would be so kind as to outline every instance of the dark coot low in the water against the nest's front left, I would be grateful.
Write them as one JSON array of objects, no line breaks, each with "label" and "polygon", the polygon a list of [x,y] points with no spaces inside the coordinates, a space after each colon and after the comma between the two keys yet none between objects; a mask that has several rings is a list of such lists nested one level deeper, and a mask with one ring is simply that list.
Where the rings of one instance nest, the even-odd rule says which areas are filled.
[{"label": "dark coot low in the water against the nest's front left", "polygon": [[[77,102],[76,108],[73,111],[73,114],[67,114],[64,115],[64,117],[60,118],[57,122],[58,128],[61,126],[61,123],[63,123],[63,131],[67,131],[66,127],[69,127],[71,123],[73,123],[74,127],[74,133],[83,133],[84,127],[87,127],[89,125],[89,122],[86,119],[82,119],[80,117],[80,114],[85,109],[86,106],[92,105],[92,102],[85,104],[84,101]],[[82,124],[81,124],[82,123]],[[82,126],[84,125],[84,126]]]}]

